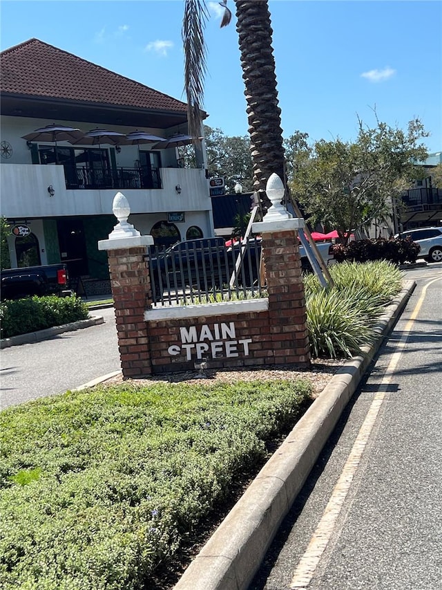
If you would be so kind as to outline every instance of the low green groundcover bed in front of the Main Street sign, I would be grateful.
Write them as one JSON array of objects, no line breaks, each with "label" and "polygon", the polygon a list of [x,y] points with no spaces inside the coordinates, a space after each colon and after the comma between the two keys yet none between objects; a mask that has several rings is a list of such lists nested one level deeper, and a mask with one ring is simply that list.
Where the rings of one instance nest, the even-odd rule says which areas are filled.
[{"label": "low green groundcover bed in front of the Main Street sign", "polygon": [[137,590],[267,457],[311,385],[123,385],[0,413],[3,590]]}]

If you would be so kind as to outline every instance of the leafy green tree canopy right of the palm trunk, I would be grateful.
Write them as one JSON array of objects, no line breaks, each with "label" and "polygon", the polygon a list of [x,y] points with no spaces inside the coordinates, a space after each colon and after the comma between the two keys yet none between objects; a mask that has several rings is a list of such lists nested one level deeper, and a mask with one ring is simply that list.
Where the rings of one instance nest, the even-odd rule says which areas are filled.
[{"label": "leafy green tree canopy right of the palm trunk", "polygon": [[292,196],[311,223],[337,230],[343,241],[391,217],[398,196],[419,176],[415,163],[427,157],[420,140],[428,133],[419,118],[410,120],[407,131],[377,117],[375,127],[358,123],[354,142],[337,138],[309,145],[300,132],[286,142]]}]

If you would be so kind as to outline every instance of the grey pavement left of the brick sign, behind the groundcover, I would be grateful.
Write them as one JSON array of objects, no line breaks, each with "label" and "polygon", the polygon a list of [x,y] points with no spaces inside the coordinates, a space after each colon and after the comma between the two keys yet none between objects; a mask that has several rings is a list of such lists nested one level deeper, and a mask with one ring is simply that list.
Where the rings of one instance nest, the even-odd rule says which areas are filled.
[{"label": "grey pavement left of the brick sign, behind the groundcover", "polygon": [[91,315],[102,315],[104,324],[0,351],[1,409],[64,393],[120,368],[113,308]]}]

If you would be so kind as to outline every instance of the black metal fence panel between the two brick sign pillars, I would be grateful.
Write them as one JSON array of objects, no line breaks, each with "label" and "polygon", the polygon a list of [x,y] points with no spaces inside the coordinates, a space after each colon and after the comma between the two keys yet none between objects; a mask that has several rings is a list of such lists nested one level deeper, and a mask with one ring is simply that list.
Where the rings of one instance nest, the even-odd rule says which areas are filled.
[{"label": "black metal fence panel between the two brick sign pillars", "polygon": [[226,246],[222,238],[178,242],[161,250],[148,249],[154,304],[180,305],[258,297],[260,239]]}]

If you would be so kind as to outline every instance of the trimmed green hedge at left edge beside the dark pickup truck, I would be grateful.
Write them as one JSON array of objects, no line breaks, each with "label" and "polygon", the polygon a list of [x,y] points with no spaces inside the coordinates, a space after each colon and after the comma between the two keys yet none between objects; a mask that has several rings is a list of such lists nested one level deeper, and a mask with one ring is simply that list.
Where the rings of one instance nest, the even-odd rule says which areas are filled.
[{"label": "trimmed green hedge at left edge beside the dark pickup truck", "polygon": [[1,338],[86,320],[89,312],[80,297],[26,297],[0,303]]}]

